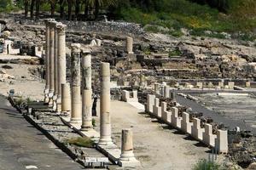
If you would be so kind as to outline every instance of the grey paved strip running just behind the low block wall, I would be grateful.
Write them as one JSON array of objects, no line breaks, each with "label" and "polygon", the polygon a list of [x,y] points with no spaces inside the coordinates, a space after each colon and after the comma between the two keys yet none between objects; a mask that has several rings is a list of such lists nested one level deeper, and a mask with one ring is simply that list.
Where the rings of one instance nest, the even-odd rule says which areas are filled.
[{"label": "grey paved strip running just behind the low block wall", "polygon": [[247,126],[245,122],[236,121],[236,120],[232,120],[230,118],[221,116],[217,112],[210,111],[206,107],[199,105],[193,100],[185,99],[182,96],[177,95],[177,102],[180,103],[181,105],[191,107],[192,111],[202,112],[204,116],[212,117],[214,122],[219,122],[219,123],[223,122],[224,125],[230,127],[230,129],[235,129],[236,127],[240,127],[241,129],[251,130],[253,133],[256,133],[256,128]]}]

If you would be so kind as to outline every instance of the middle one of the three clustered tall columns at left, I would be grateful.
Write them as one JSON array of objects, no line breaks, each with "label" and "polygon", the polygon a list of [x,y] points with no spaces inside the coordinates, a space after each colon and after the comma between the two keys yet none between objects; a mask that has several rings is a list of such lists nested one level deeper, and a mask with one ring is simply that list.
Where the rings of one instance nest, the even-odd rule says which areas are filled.
[{"label": "middle one of the three clustered tall columns at left", "polygon": [[57,25],[61,24],[59,22],[55,22],[55,45],[54,45],[54,84],[55,84],[55,92],[53,96],[53,110],[57,109],[57,95],[58,95],[58,30]]}]

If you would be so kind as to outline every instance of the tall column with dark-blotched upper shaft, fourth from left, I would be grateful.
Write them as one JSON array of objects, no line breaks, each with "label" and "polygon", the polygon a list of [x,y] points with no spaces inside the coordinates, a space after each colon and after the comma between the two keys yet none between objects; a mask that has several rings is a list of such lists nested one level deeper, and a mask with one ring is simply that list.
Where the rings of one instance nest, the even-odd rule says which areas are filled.
[{"label": "tall column with dark-blotched upper shaft, fourth from left", "polygon": [[82,122],[80,44],[71,44],[71,123]]}]

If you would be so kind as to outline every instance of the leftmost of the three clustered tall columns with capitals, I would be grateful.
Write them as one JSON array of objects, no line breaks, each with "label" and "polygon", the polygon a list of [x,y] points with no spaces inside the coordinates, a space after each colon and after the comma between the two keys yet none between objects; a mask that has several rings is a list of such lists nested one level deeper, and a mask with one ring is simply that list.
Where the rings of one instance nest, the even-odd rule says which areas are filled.
[{"label": "leftmost of the three clustered tall columns with capitals", "polygon": [[49,22],[49,106],[53,106],[55,92],[55,23]]}]

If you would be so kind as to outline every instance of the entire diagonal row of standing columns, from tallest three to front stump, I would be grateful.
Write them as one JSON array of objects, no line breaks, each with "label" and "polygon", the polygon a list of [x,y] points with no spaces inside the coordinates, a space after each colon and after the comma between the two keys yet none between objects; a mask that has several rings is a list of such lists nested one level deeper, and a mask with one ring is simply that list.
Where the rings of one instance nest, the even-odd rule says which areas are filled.
[{"label": "entire diagonal row of standing columns, from tallest three to front stump", "polygon": [[[71,44],[71,84],[67,83],[65,42],[66,26],[51,19],[45,20],[45,24],[46,84],[44,90],[44,102],[49,106],[52,106],[55,111],[62,113],[70,112],[70,122],[82,123],[81,130],[89,131],[92,128],[90,51],[84,50],[81,52],[81,46],[79,43]],[[130,48],[130,51],[131,50],[132,48]],[[80,68],[82,68],[82,71]],[[101,64],[100,78],[100,139],[98,144],[104,147],[113,144],[111,138],[109,63]],[[137,162],[133,155],[132,132],[130,129],[124,129],[122,131],[121,148],[122,150],[119,159],[120,164],[123,165],[128,161]]]}]

